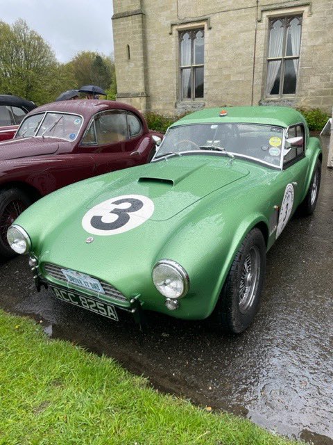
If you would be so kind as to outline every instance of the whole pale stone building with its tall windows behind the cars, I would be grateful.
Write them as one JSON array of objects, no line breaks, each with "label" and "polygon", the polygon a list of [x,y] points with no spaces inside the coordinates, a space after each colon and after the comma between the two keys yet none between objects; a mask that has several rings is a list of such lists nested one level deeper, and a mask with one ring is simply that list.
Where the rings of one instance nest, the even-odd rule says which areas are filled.
[{"label": "whole pale stone building with its tall windows behind the cars", "polygon": [[117,99],[332,111],[333,0],[113,0]]}]

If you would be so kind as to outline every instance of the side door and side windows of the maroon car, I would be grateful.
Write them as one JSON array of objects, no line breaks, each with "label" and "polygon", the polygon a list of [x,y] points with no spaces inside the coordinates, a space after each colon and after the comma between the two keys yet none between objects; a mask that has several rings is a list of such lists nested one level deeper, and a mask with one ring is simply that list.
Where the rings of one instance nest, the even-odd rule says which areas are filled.
[{"label": "side door and side windows of the maroon car", "polygon": [[79,150],[92,155],[96,175],[120,170],[140,163],[137,147],[143,133],[142,122],[134,113],[103,111],[90,122]]}]

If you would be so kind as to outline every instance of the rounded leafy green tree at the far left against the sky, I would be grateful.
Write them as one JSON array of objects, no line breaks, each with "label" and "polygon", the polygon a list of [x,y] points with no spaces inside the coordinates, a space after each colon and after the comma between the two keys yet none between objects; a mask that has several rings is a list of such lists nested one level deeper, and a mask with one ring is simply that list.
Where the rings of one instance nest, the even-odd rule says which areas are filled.
[{"label": "rounded leafy green tree at the far left against the sky", "polygon": [[42,37],[18,19],[0,22],[0,89],[44,103],[54,99],[60,65]]}]

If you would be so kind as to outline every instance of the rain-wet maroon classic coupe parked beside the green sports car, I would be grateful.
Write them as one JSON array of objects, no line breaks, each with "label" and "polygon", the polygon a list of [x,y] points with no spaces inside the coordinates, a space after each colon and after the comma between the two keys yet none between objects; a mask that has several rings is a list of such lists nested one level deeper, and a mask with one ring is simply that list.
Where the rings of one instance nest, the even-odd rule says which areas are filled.
[{"label": "rain-wet maroon classic coupe parked beside the green sports car", "polygon": [[162,136],[121,102],[53,102],[28,113],[15,138],[0,143],[0,257],[12,256],[7,229],[32,202],[81,179],[150,161]]}]

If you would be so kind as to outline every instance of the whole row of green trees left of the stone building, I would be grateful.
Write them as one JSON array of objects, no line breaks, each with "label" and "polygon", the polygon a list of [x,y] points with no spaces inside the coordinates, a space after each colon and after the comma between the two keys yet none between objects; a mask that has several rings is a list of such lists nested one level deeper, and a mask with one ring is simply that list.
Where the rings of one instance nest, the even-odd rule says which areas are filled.
[{"label": "whole row of green trees left of the stone building", "polygon": [[0,21],[1,94],[10,92],[41,105],[53,102],[61,92],[90,84],[115,97],[112,58],[83,51],[69,63],[58,63],[53,49],[24,20],[13,25]]}]

